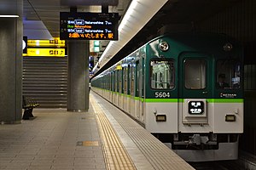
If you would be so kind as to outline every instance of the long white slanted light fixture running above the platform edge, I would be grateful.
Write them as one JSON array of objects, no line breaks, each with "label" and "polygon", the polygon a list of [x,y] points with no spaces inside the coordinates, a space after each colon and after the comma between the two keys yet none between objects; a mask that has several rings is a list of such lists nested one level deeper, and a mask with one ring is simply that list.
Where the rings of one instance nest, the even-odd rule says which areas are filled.
[{"label": "long white slanted light fixture running above the platform edge", "polygon": [[[110,41],[108,43],[107,48],[105,48],[101,58],[98,60],[98,64],[95,65],[93,70],[97,72],[101,69],[97,68],[97,65],[102,67],[107,64],[108,61],[148,23],[148,20],[150,20],[167,1],[168,0],[132,0],[124,18],[119,24],[119,41]],[[142,16],[142,14],[146,15]]]}]

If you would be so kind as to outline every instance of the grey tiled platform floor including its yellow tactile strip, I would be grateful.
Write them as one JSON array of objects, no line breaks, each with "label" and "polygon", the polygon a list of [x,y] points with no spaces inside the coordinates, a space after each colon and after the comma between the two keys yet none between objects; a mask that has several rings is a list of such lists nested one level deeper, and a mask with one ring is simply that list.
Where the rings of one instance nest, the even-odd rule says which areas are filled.
[{"label": "grey tiled platform floor including its yellow tactile strip", "polygon": [[0,126],[0,169],[194,169],[96,94],[88,112],[35,109]]}]

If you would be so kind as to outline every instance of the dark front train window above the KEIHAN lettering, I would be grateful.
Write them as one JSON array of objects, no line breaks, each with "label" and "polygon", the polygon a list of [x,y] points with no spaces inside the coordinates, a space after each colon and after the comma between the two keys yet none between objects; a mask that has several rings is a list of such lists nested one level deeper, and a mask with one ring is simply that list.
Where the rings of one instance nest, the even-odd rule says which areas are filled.
[{"label": "dark front train window above the KEIHAN lettering", "polygon": [[241,64],[236,60],[217,61],[216,88],[241,88]]}]

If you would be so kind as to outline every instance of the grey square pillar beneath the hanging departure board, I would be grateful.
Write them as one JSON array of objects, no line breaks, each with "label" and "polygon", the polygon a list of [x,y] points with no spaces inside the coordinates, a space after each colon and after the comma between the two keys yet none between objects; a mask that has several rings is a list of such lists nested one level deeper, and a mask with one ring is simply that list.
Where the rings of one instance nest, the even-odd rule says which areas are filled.
[{"label": "grey square pillar beneath the hanging departure board", "polygon": [[68,41],[67,111],[89,109],[89,41]]}]

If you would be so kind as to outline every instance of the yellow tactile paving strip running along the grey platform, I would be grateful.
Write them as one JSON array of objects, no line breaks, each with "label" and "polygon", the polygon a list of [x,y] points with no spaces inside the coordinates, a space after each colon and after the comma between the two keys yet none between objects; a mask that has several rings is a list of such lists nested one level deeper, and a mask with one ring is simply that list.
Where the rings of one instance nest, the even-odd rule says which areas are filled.
[{"label": "yellow tactile paving strip running along the grey platform", "polygon": [[102,108],[96,103],[93,96],[90,96],[90,102],[96,113],[96,121],[102,139],[106,167],[110,170],[137,169],[127,154],[117,133],[114,131],[110,122],[108,122],[108,118],[104,115]]}]

